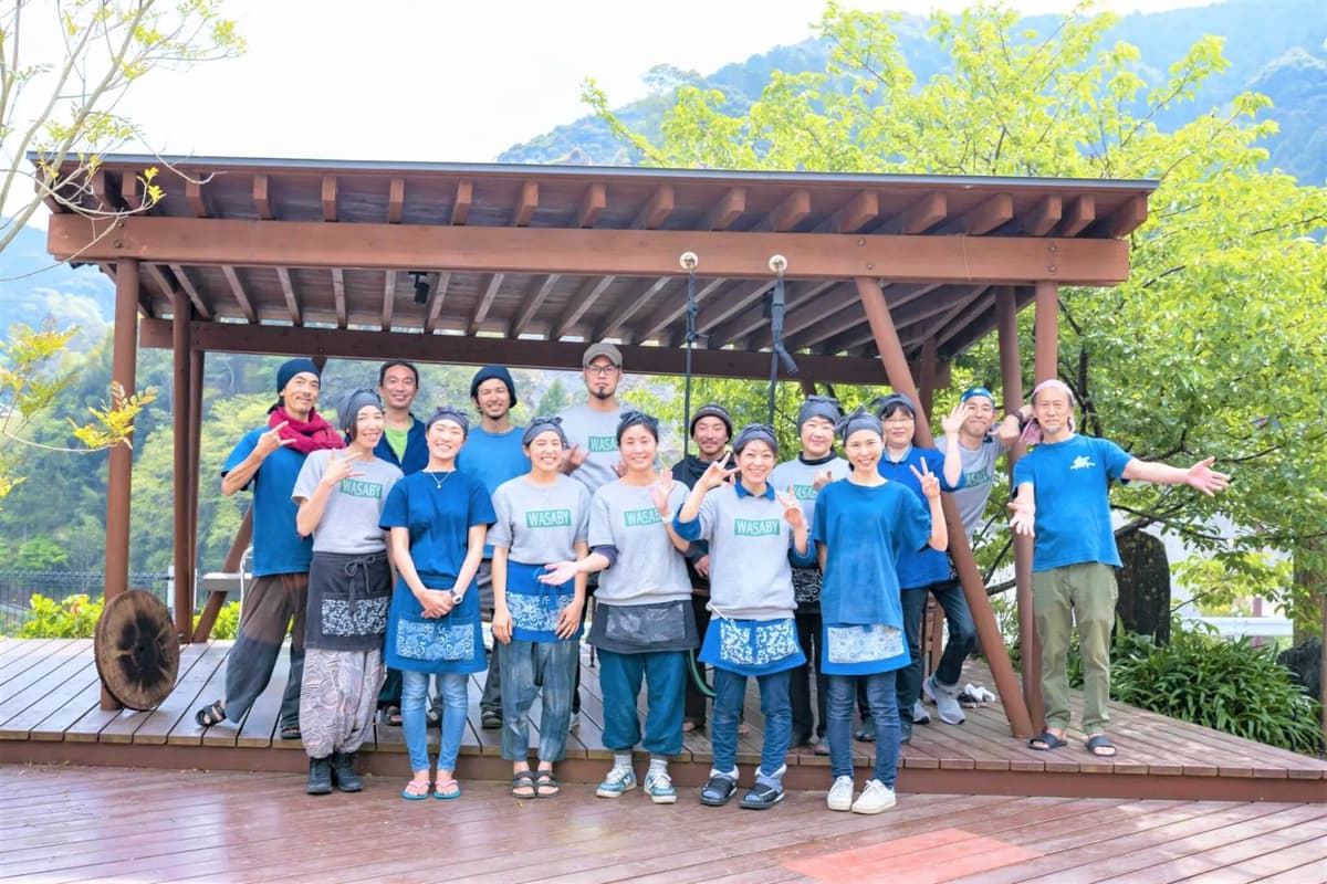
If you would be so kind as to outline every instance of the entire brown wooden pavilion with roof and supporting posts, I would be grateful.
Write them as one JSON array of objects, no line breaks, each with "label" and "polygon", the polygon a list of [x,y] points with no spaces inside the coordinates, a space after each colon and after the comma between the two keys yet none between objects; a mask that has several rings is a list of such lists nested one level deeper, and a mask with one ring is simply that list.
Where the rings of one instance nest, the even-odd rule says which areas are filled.
[{"label": "entire brown wooden pavilion with roof and supporting posts", "polygon": [[[165,196],[145,199],[158,168]],[[107,156],[48,199],[50,253],[115,281],[114,380],[137,347],[174,351],[175,599],[203,641],[194,562],[207,351],[579,368],[585,341],[625,367],[681,374],[698,256],[694,370],[766,378],[771,257],[784,256],[782,343],[808,390],[881,379],[929,410],[965,347],[998,331],[1005,407],[1022,403],[1016,314],[1035,309],[1035,378],[1056,374],[1060,285],[1127,278],[1148,180],[722,172],[441,163]],[[73,211],[78,207],[81,211]],[[882,372],[881,372],[882,368]],[[783,370],[780,370],[783,371]],[[787,378],[786,372],[782,376]],[[917,440],[929,444],[926,420]],[[1016,456],[1018,452],[1015,452]],[[110,457],[106,595],[126,588],[131,460]],[[1014,736],[1040,722],[1030,541],[1015,543],[1019,687],[981,575],[950,543]],[[236,538],[227,570],[248,538]],[[109,700],[105,698],[104,700]]]}]

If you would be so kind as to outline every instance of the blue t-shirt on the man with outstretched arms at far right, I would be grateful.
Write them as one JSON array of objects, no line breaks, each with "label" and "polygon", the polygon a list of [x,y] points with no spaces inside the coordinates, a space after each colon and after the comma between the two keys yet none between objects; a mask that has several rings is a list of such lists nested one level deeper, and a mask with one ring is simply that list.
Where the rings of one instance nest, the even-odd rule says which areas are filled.
[{"label": "blue t-shirt on the man with outstretched arms at far right", "polygon": [[1042,443],[1014,465],[1014,488],[1031,482],[1036,502],[1034,571],[1083,562],[1120,567],[1107,492],[1131,460],[1113,441],[1075,435]]}]

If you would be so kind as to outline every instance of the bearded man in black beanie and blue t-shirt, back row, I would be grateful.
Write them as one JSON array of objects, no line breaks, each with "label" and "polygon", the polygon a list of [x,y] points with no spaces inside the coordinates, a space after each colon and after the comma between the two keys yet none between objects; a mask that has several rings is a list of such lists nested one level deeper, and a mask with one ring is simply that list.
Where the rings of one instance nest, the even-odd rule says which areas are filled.
[{"label": "bearded man in black beanie and blue t-shirt, back row", "polygon": [[[479,410],[479,425],[470,431],[466,448],[456,459],[456,469],[482,481],[492,498],[499,485],[529,472],[529,459],[520,444],[524,427],[511,424],[511,410],[516,406],[516,384],[511,372],[506,366],[484,366],[470,380],[470,399]],[[484,543],[484,561],[475,579],[482,616],[490,619],[494,612],[492,558],[492,545]],[[488,655],[479,722],[490,730],[502,728],[502,676],[496,653]]]}]

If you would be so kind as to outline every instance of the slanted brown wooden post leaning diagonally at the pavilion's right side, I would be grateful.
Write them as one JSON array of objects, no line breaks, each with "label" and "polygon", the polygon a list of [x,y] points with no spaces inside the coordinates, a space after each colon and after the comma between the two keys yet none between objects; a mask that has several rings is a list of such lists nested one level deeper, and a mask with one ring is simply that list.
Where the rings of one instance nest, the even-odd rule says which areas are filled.
[{"label": "slanted brown wooden post leaning diagonally at the pavilion's right side", "polygon": [[[894,329],[893,319],[889,317],[889,305],[885,302],[884,290],[876,280],[869,277],[856,277],[856,284],[857,294],[861,297],[861,306],[867,313],[867,321],[871,323],[871,334],[880,349],[880,360],[884,363],[889,384],[896,391],[917,402],[917,388],[913,384],[912,372],[908,371],[908,359],[898,341],[898,330]],[[934,444],[925,412],[918,415],[917,440],[924,445]],[[1015,737],[1027,740],[1034,733],[1032,722],[1027,713],[1027,704],[1023,701],[1023,693],[1019,691],[1018,680],[1014,677],[1014,667],[1009,663],[1005,640],[995,626],[995,612],[991,610],[990,598],[986,595],[986,586],[982,583],[981,571],[977,570],[973,550],[967,545],[967,534],[963,533],[963,524],[958,520],[958,508],[949,494],[941,497],[941,504],[945,510],[945,524],[949,526],[949,551],[954,558],[954,565],[958,567],[958,579],[963,584],[963,595],[967,598],[973,622],[977,624],[977,636],[982,643],[982,649],[986,652],[991,677],[995,680],[995,692],[1005,706],[1010,730]]]}]

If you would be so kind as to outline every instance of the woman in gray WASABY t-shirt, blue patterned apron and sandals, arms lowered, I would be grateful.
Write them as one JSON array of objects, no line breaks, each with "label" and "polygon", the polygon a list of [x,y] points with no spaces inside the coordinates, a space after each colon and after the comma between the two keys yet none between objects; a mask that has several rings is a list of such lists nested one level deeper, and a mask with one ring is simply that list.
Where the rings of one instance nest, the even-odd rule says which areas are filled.
[{"label": "woman in gray WASABY t-shirt, blue patterned apron and sandals, arms lowered", "polygon": [[[502,757],[514,798],[553,798],[553,762],[567,754],[580,665],[585,574],[560,586],[539,580],[548,562],[589,553],[589,490],[563,476],[561,417],[535,417],[522,436],[529,472],[494,492],[494,639],[502,679]],[[539,769],[529,770],[529,706],[541,697]]]}]

